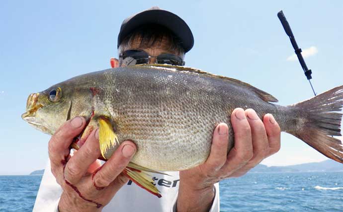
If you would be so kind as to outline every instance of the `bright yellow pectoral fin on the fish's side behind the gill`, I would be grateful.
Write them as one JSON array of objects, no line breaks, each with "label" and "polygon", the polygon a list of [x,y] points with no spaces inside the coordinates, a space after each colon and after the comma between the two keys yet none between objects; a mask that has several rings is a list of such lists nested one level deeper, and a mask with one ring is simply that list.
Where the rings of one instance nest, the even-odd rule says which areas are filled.
[{"label": "bright yellow pectoral fin on the fish's side behind the gill", "polygon": [[108,159],[105,157],[105,153],[109,147],[111,145],[114,146],[115,144],[119,145],[118,137],[113,132],[112,124],[104,117],[99,118],[99,143],[101,155],[105,159]]}]

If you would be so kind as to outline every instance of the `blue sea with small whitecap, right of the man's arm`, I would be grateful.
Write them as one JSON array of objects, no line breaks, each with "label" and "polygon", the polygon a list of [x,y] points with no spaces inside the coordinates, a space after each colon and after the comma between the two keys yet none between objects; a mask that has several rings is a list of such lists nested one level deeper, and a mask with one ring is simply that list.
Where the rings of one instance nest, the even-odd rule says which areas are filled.
[{"label": "blue sea with small whitecap, right of the man's arm", "polygon": [[343,212],[343,172],[248,173],[220,186],[221,212]]}]

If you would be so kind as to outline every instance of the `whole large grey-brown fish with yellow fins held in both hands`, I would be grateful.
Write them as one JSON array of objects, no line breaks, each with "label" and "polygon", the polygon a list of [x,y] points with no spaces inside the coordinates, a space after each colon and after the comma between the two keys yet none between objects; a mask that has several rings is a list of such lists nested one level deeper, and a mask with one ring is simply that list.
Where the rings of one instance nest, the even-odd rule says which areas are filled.
[{"label": "whole large grey-brown fish with yellow fins held in both hands", "polygon": [[219,123],[229,126],[228,152],[234,146],[230,116],[252,108],[259,118],[273,114],[282,132],[343,163],[341,136],[343,85],[289,105],[238,79],[194,68],[136,65],[79,75],[29,95],[28,124],[53,135],[66,121],[86,118],[86,128],[71,147],[79,149],[99,128],[100,159],[111,157],[121,142],[137,151],[125,168],[133,182],[161,197],[149,172],[180,171],[206,161]]}]

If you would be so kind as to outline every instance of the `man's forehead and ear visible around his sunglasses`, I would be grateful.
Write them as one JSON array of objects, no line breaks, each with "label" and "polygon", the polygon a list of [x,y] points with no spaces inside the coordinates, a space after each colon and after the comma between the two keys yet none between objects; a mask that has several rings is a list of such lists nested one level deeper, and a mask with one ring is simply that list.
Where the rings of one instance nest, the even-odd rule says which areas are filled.
[{"label": "man's forehead and ear visible around his sunglasses", "polygon": [[[176,56],[179,56],[183,59],[184,54],[180,54],[177,50],[170,50],[171,41],[166,39],[165,37],[162,39],[161,42],[155,42],[153,45],[149,47],[140,47],[141,44],[141,37],[136,36],[132,39],[132,42],[130,42],[130,45],[125,46],[121,52],[124,52],[126,50],[143,50],[147,52],[150,56],[159,56],[161,54],[173,54]],[[149,64],[156,63],[156,58],[152,57],[149,59]],[[117,59],[111,60],[112,68],[119,67],[119,61]],[[121,64],[121,67],[126,66],[125,64]]]}]

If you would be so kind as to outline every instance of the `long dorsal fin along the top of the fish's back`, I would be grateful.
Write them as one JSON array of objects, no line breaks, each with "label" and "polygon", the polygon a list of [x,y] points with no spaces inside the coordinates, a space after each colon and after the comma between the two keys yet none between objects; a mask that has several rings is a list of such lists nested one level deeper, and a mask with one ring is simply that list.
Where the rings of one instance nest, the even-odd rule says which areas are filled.
[{"label": "long dorsal fin along the top of the fish's back", "polygon": [[247,89],[255,92],[263,101],[266,102],[278,102],[278,100],[272,96],[271,94],[264,92],[263,90],[260,90],[254,86],[252,86],[249,83],[243,82],[241,80],[238,79],[234,79],[234,78],[230,78],[230,77],[226,77],[226,76],[221,76],[221,75],[217,75],[217,74],[213,74],[213,73],[209,73],[206,71],[201,71],[199,69],[194,69],[194,68],[190,68],[190,67],[183,67],[183,66],[171,66],[171,65],[167,65],[167,64],[149,64],[149,65],[136,65],[138,66],[145,66],[145,67],[149,67],[149,68],[167,68],[167,69],[171,69],[172,71],[188,71],[188,72],[195,72],[195,73],[200,73],[200,74],[205,74],[208,75],[210,77],[213,78],[221,78],[221,79],[225,79],[225,80],[229,80],[230,82],[233,82],[235,84],[238,84],[240,86],[244,86]]}]

